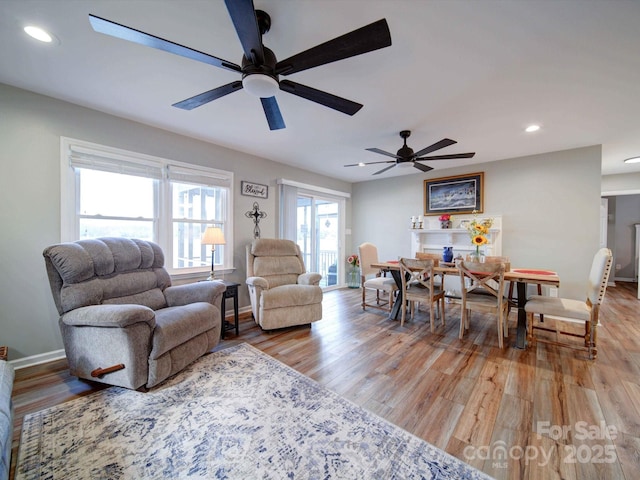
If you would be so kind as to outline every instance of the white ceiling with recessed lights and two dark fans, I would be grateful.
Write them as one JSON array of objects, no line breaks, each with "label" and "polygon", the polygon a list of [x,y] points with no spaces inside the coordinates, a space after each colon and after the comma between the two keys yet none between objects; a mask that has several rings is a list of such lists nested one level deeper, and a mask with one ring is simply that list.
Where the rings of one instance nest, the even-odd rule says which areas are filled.
[{"label": "white ceiling with recessed lights and two dark fans", "polygon": [[[94,32],[92,13],[239,64],[222,0],[0,0],[0,82],[346,181],[420,175],[344,164],[388,160],[398,132],[414,150],[444,137],[436,170],[603,145],[603,174],[640,171],[637,0],[254,0],[272,19],[264,43],[284,59],[386,18],[392,46],[293,81],[364,104],[350,117],[284,92],[287,128],[235,92],[192,111],[171,104],[239,79],[227,70]],[[40,25],[59,42],[22,28]],[[1,114],[1,108],[0,108]],[[525,134],[539,123],[536,134]],[[435,153],[434,153],[435,154]],[[426,162],[429,165],[429,162]]]}]

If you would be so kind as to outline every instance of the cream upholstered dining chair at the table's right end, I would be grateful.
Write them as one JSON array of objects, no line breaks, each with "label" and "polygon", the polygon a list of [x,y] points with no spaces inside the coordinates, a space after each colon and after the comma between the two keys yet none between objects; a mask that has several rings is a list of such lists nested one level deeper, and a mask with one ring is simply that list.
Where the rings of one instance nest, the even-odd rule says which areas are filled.
[{"label": "cream upholstered dining chair at the table's right end", "polygon": [[[598,316],[600,305],[604,299],[607,290],[607,282],[611,273],[611,264],[613,263],[613,255],[608,248],[601,248],[596,252],[591,263],[591,270],[587,280],[587,298],[586,300],[574,300],[570,298],[543,297],[533,295],[525,304],[527,312],[527,338],[534,344],[536,341],[560,345],[569,348],[576,347],[575,344],[559,342],[557,340],[549,340],[545,338],[536,338],[533,334],[534,330],[545,330],[548,332],[569,335],[572,337],[584,338],[584,348],[589,352],[589,359],[594,360],[598,356],[596,345],[598,327]],[[550,326],[535,325],[533,321],[534,314],[544,314],[547,318],[552,318],[555,322],[555,328]],[[579,323],[584,324],[584,334],[578,334],[569,331],[562,331],[558,327],[563,323]]]}]

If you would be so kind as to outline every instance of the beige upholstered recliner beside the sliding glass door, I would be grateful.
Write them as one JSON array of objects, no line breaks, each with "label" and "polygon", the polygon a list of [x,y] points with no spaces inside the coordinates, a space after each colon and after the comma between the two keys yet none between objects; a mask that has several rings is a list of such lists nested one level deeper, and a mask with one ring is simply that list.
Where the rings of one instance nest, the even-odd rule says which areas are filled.
[{"label": "beige upholstered recliner beside the sliding glass door", "polygon": [[322,318],[322,275],[306,273],[291,240],[259,238],[247,245],[247,285],[253,318],[264,330]]}]

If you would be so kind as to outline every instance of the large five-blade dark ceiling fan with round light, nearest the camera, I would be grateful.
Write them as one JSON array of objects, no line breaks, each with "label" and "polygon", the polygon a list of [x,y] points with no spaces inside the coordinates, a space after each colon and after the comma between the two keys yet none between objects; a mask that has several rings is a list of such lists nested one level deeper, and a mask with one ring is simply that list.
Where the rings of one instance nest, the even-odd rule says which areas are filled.
[{"label": "large five-blade dark ceiling fan with round light, nearest the camera", "polygon": [[279,76],[291,75],[390,46],[391,34],[385,19],[336,37],[285,60],[277,61],[275,54],[262,43],[262,35],[271,27],[271,17],[262,10],[255,10],[253,0],[225,0],[225,4],[244,51],[241,66],[96,15],[90,14],[89,21],[96,32],[157,48],[242,75],[242,81],[236,80],[173,104],[177,108],[192,110],[244,88],[251,95],[260,98],[271,130],[285,128],[274,96],[278,89],[347,115],[354,115],[362,108],[361,104],[351,100],[290,80],[279,80]]}]

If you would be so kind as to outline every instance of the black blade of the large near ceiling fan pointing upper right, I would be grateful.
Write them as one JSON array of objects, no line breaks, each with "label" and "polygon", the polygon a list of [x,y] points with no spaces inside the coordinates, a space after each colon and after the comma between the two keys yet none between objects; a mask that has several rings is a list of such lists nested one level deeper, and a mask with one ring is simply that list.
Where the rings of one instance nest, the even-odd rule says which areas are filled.
[{"label": "black blade of the large near ceiling fan pointing upper right", "polygon": [[390,45],[391,32],[383,18],[278,62],[276,74],[291,75]]}]

